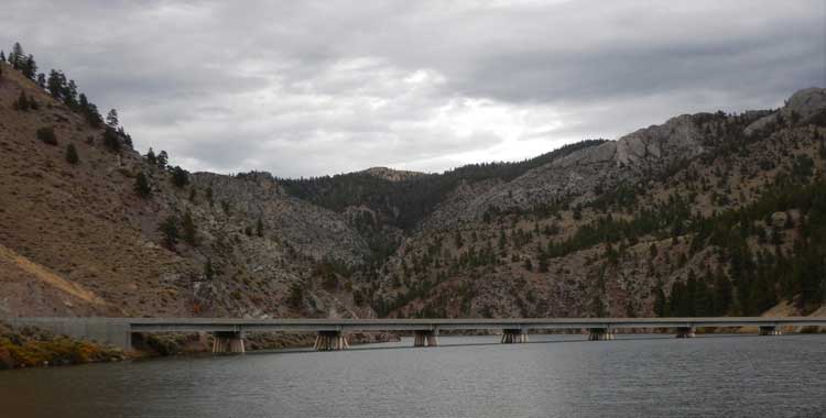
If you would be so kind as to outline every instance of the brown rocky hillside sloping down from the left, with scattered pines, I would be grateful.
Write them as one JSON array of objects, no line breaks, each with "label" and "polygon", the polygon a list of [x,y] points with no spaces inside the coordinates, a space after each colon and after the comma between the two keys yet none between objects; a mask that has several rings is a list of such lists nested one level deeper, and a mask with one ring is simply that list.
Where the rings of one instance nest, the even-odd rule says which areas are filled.
[{"label": "brown rocky hillside sloping down from the left, with scattered pines", "polygon": [[0,68],[0,315],[370,315],[344,282],[322,283],[367,254],[344,216],[265,174],[188,174],[122,132],[112,145]]}]

